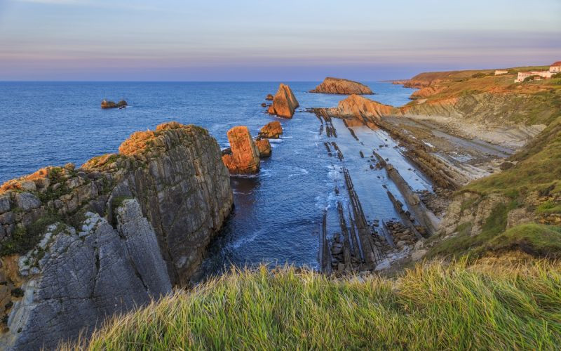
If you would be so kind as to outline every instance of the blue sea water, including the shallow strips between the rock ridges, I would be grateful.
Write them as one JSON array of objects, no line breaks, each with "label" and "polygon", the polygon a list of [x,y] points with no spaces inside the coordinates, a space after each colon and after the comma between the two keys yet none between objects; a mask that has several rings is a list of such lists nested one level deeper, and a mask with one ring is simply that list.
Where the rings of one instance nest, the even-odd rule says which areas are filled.
[{"label": "blue sea water, including the shallow strips between the rock ridges", "polygon": [[[271,140],[273,154],[262,161],[259,176],[231,180],[236,208],[212,242],[205,268],[214,272],[229,263],[263,261],[315,267],[319,223],[323,209],[336,201],[334,183],[341,182],[341,175],[334,158],[325,152],[326,137],[318,133],[318,119],[304,109],[332,107],[345,98],[307,93],[318,83],[290,83],[300,107],[294,118],[277,119],[260,104],[266,94],[276,92],[278,82],[0,82],[0,183],[43,166],[80,165],[91,157],[116,152],[134,131],[154,129],[165,121],[203,126],[227,147],[229,128],[245,125],[257,135],[264,124],[277,119],[283,125],[283,138]],[[389,83],[367,84],[377,94],[369,98],[389,105],[405,104],[412,93]],[[103,98],[126,99],[130,107],[101,110]],[[341,121],[334,123],[353,180],[363,185],[365,211],[391,217],[393,210],[381,187],[386,180],[368,173],[368,164],[353,146],[356,140]],[[381,131],[358,128],[356,133],[367,154],[379,143],[391,143]],[[399,158],[395,148],[381,152]],[[408,169],[414,172],[403,161],[404,176],[413,183],[418,180],[417,187],[428,187]]]}]

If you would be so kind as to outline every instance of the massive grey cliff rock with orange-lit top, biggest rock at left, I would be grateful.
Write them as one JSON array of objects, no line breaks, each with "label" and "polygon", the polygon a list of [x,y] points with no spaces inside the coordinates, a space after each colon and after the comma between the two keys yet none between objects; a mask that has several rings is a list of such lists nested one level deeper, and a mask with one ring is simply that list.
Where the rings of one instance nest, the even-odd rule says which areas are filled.
[{"label": "massive grey cliff rock with orange-lit top, biggest rock at left", "polygon": [[87,336],[195,276],[233,201],[216,140],[172,122],[119,151],[0,187],[0,349]]}]

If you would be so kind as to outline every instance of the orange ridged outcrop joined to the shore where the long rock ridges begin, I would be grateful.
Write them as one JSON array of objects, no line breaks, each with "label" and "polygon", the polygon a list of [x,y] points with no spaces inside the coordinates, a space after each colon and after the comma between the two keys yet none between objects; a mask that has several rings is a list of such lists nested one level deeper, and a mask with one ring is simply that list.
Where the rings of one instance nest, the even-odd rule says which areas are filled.
[{"label": "orange ridged outcrop joined to the shore where the long rock ridges begin", "polygon": [[367,124],[379,121],[380,117],[393,114],[396,110],[390,105],[384,105],[359,95],[351,95],[349,98],[339,101],[337,107],[325,109],[325,112],[331,117],[358,119]]}]

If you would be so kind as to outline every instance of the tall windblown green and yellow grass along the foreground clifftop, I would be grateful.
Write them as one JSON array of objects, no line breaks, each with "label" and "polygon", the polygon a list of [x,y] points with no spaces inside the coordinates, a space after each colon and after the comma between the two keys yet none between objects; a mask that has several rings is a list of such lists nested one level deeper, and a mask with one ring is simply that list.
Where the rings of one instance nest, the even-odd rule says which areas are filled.
[{"label": "tall windblown green and yellow grass along the foreground clifftop", "polygon": [[417,265],[398,279],[232,271],[63,349],[553,350],[559,263]]}]

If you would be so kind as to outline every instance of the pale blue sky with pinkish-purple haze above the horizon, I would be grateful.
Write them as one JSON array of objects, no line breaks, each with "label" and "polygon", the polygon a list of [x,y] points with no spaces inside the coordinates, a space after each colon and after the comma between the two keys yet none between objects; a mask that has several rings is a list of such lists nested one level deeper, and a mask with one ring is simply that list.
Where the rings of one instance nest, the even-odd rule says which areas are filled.
[{"label": "pale blue sky with pinkish-purple haze above the horizon", "polygon": [[561,60],[561,0],[0,0],[0,80],[362,81]]}]

